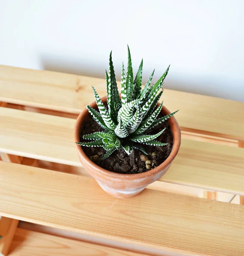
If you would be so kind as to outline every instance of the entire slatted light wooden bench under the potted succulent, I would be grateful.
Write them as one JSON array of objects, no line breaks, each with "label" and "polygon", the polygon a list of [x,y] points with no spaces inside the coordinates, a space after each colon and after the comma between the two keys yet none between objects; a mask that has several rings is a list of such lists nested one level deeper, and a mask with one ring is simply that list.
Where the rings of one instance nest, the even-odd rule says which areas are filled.
[{"label": "entire slatted light wooden bench under the potted succulent", "polygon": [[[43,243],[40,255],[244,255],[244,206],[228,203],[244,195],[244,103],[165,89],[167,108],[180,109],[179,154],[159,181],[121,200],[102,192],[74,148],[91,85],[105,95],[104,79],[0,67],[3,255]],[[226,202],[210,200],[218,195]],[[16,229],[16,220],[66,233]]]}]

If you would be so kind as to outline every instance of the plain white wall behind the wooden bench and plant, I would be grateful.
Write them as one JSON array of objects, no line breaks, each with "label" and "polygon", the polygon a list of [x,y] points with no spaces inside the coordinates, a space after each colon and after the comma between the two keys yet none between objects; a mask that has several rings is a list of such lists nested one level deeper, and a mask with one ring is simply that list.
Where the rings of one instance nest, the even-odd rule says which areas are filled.
[{"label": "plain white wall behind the wooden bench and plant", "polygon": [[244,0],[0,0],[0,64],[120,77],[127,44],[145,82],[244,102]]}]

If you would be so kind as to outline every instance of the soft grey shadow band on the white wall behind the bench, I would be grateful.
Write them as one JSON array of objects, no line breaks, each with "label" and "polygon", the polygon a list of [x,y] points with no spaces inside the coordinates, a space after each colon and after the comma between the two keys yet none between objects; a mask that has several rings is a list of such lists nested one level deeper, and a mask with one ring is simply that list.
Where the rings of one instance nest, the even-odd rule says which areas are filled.
[{"label": "soft grey shadow band on the white wall behind the bench", "polygon": [[[80,76],[92,76],[105,79],[105,68],[108,70],[108,61],[98,58],[74,58],[68,56],[51,56],[42,55],[40,57],[41,66],[43,70],[70,73]],[[150,72],[148,70],[150,69]],[[120,80],[122,67],[114,63],[114,70],[117,80]],[[145,68],[143,71],[142,83],[145,84],[151,74],[152,68]],[[221,77],[201,77],[193,74],[178,73],[173,70],[171,65],[167,79],[165,80],[164,88],[171,90],[179,90],[188,93],[198,93],[202,95],[214,96],[223,99],[230,99],[227,87],[230,84],[240,84],[241,81],[233,81],[233,79],[226,79]],[[135,73],[135,72],[134,72]],[[160,77],[159,70],[156,70],[152,82],[157,81]],[[243,86],[233,87],[240,95],[243,93]],[[233,98],[233,100],[238,100]],[[244,97],[240,101],[244,102]]]}]

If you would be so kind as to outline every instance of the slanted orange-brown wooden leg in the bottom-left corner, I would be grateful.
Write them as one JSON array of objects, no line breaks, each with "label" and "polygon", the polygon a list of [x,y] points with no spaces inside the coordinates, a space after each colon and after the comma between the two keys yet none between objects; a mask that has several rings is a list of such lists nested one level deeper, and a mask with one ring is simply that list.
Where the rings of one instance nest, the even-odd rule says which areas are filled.
[{"label": "slanted orange-brown wooden leg in the bottom-left corner", "polygon": [[7,256],[19,221],[12,218],[0,218],[0,256]]}]

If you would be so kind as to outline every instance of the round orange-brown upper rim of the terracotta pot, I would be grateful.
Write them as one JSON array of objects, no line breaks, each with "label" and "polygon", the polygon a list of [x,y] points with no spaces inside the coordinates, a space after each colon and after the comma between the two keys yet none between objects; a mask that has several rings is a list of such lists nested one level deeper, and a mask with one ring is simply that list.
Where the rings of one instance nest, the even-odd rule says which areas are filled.
[{"label": "round orange-brown upper rim of the terracotta pot", "polygon": [[[101,100],[102,100],[103,103],[106,102],[107,101],[107,96],[102,97]],[[97,105],[96,105],[95,101],[92,102],[89,105],[91,106],[91,108],[97,109]],[[171,113],[165,106],[162,107],[161,113],[162,112],[163,112],[164,115],[167,115],[167,114]],[[88,114],[89,114],[89,112],[85,108],[79,114],[79,116],[78,116],[78,118],[75,122],[75,125],[74,125],[74,141],[75,142],[80,142],[80,137],[79,137],[80,128],[81,128],[83,120],[86,118],[86,116],[88,116]],[[170,152],[170,155],[159,166],[157,166],[154,169],[151,169],[149,171],[142,172],[142,173],[122,174],[122,173],[111,172],[111,171],[108,171],[106,169],[103,169],[102,167],[98,166],[96,163],[94,163],[90,160],[90,158],[85,154],[85,152],[82,150],[82,147],[80,145],[77,145],[77,144],[75,144],[75,145],[77,147],[79,157],[82,158],[82,160],[86,163],[87,166],[94,169],[96,172],[99,172],[104,176],[118,178],[120,180],[121,179],[122,180],[142,179],[142,178],[145,178],[145,177],[150,177],[150,176],[156,175],[158,172],[167,168],[167,166],[170,165],[170,163],[174,160],[174,158],[176,157],[176,154],[179,151],[179,147],[180,147],[180,144],[181,144],[181,132],[180,132],[179,125],[178,125],[174,116],[171,116],[170,119],[168,119],[168,122],[170,124],[170,129],[171,129],[171,132],[173,134],[173,148]]]}]

